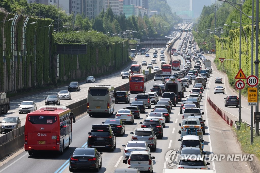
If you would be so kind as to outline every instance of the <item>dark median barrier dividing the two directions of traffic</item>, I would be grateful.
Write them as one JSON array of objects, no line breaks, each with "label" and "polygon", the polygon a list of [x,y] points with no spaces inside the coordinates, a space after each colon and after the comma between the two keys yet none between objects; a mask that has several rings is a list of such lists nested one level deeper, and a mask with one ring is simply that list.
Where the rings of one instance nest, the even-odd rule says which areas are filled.
[{"label": "dark median barrier dividing the two directions of traffic", "polygon": [[[146,75],[147,80],[152,80],[154,75],[161,73],[161,70]],[[129,82],[115,87],[115,91],[129,91]],[[78,102],[72,103],[68,106],[75,116],[87,112],[88,99],[82,99]],[[12,130],[9,133],[0,137],[0,160],[10,155],[11,153],[21,149],[24,146],[24,125],[18,129]]]}]

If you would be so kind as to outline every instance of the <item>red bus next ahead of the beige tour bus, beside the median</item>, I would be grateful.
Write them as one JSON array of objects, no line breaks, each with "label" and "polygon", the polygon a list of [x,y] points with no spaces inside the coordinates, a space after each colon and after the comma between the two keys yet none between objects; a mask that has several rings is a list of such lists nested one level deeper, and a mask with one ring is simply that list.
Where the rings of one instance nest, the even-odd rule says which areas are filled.
[{"label": "red bus next ahead of the beige tour bus, beside the median", "polygon": [[146,90],[146,76],[145,75],[134,75],[130,77],[129,90],[133,92],[145,93]]}]

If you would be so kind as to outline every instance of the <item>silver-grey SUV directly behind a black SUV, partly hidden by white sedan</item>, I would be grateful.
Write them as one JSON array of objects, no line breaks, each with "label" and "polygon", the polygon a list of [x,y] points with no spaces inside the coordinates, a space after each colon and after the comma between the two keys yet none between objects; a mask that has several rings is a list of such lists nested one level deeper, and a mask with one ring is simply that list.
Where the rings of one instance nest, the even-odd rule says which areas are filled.
[{"label": "silver-grey SUV directly behind a black SUV, partly hidden by white sedan", "polygon": [[[132,141],[145,141],[148,145],[152,145],[150,147],[153,151],[157,148],[157,137],[154,133],[153,129],[149,128],[137,128],[134,132],[130,132],[132,134]],[[158,134],[157,134],[158,135]]]}]

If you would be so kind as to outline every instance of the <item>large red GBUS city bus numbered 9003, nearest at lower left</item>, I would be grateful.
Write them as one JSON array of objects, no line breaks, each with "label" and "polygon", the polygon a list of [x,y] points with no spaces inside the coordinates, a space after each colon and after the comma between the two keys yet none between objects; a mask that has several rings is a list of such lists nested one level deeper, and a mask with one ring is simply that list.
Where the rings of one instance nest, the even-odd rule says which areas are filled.
[{"label": "large red GBUS city bus numbered 9003, nearest at lower left", "polygon": [[29,155],[37,151],[58,151],[72,142],[72,122],[75,116],[65,106],[46,106],[26,116],[24,150]]}]

